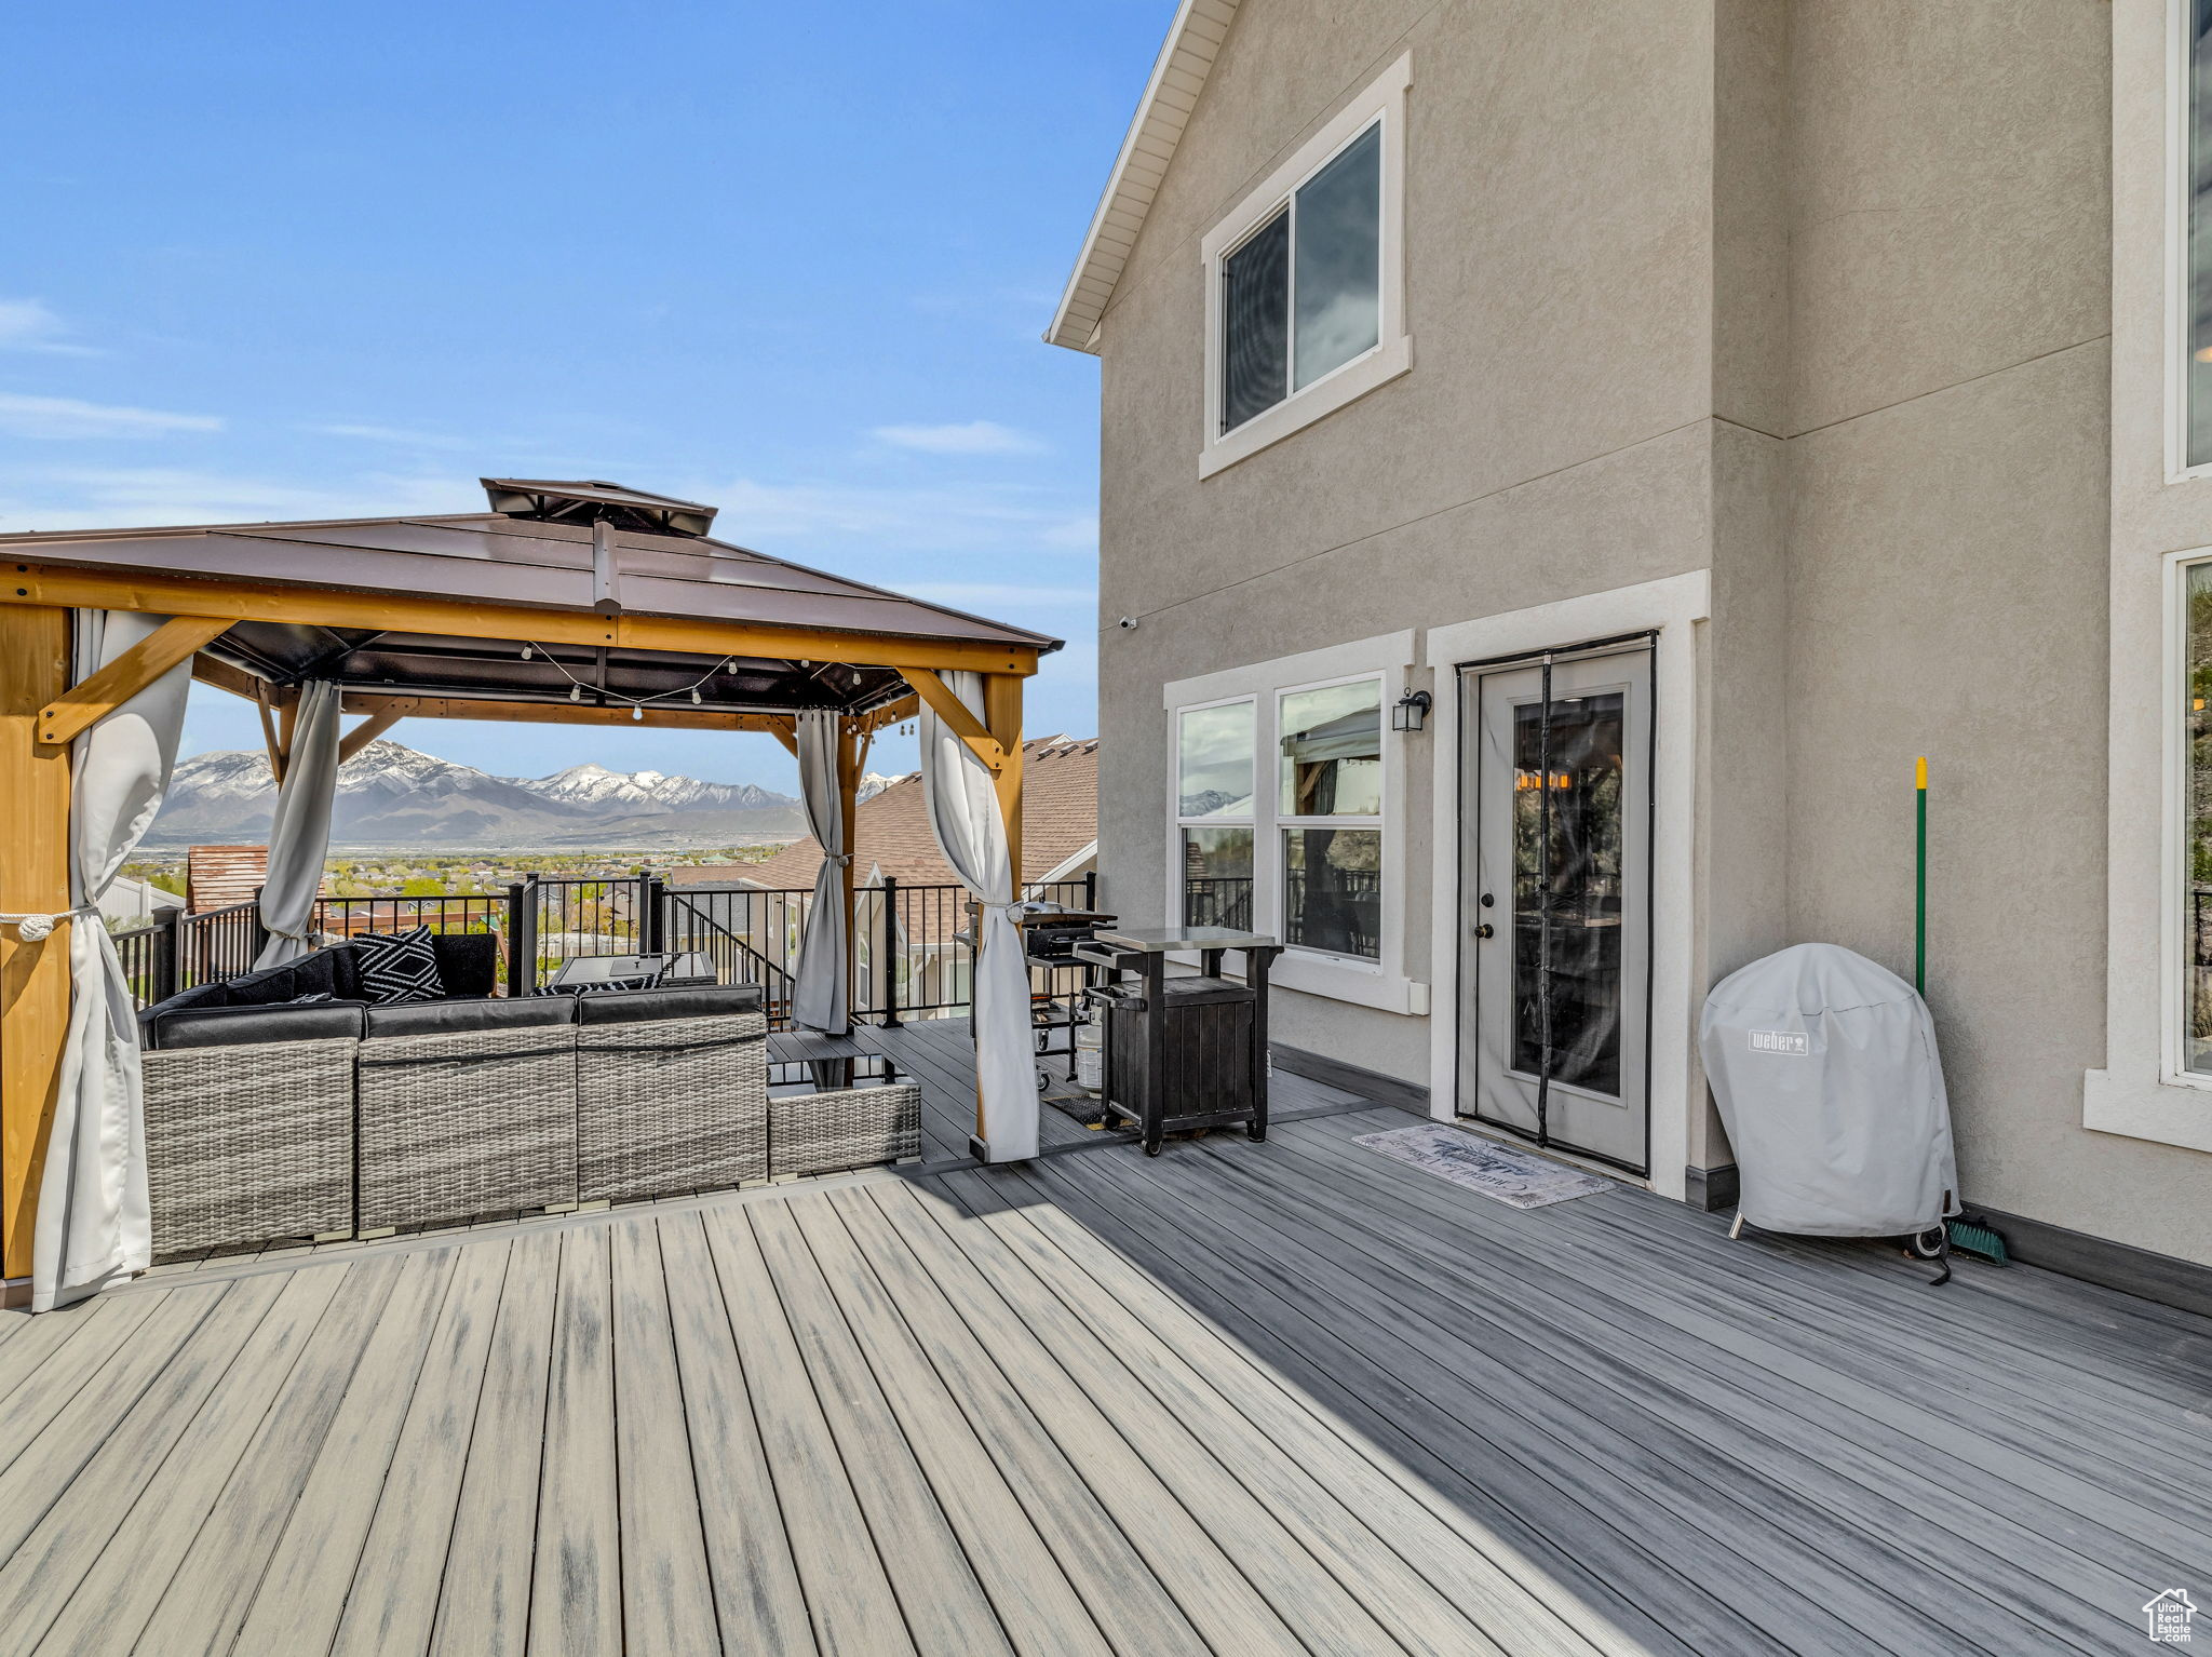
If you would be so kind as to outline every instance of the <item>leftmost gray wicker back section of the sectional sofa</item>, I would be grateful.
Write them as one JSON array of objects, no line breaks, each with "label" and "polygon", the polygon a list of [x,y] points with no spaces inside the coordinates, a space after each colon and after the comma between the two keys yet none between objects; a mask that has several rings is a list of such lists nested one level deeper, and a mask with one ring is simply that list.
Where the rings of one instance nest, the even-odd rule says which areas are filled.
[{"label": "leftmost gray wicker back section of the sectional sofa", "polygon": [[356,1038],[144,1053],[157,1259],[354,1230]]}]

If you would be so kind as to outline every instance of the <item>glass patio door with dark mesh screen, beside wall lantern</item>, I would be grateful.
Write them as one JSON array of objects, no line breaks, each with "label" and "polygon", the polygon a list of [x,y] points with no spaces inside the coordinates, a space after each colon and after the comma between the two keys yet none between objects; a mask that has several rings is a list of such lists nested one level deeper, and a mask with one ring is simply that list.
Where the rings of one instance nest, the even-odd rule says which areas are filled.
[{"label": "glass patio door with dark mesh screen, beside wall lantern", "polygon": [[1650,648],[1460,673],[1460,1115],[1646,1173]]}]

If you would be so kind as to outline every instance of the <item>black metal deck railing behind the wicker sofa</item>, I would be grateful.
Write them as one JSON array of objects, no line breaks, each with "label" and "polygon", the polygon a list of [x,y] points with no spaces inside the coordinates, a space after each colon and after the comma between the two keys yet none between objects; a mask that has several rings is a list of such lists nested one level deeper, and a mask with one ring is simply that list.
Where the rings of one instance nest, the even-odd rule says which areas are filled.
[{"label": "black metal deck railing behind the wicker sofa", "polygon": [[[1024,898],[1097,907],[1097,876],[1033,883]],[[790,1022],[812,889],[670,887],[657,874],[518,880],[498,894],[316,898],[319,938],[365,931],[489,931],[504,940],[500,989],[529,996],[575,956],[703,953],[726,984],[761,984],[772,1022]],[[1250,894],[1245,896],[1250,911]],[[1206,925],[1239,925],[1214,920]],[[960,885],[883,885],[854,892],[854,1018],[898,1024],[964,1013],[973,987],[971,905]],[[215,978],[239,978],[268,942],[257,903],[204,914],[170,911],[115,934],[139,1007]],[[1064,989],[1037,971],[1037,993]]]}]

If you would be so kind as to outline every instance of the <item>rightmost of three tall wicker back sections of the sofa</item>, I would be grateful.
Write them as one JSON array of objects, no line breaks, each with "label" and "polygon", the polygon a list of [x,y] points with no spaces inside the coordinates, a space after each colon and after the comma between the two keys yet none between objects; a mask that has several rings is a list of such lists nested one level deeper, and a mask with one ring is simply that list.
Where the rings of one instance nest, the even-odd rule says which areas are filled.
[{"label": "rightmost of three tall wicker back sections of the sofa", "polygon": [[768,1018],[717,1013],[575,1031],[575,1177],[582,1201],[630,1201],[768,1177]]}]

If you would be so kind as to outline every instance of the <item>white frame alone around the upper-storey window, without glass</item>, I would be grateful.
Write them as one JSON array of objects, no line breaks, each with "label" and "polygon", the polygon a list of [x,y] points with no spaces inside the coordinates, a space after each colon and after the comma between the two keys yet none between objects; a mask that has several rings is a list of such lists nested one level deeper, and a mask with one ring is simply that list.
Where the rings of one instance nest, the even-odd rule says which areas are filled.
[{"label": "white frame alone around the upper-storey window, without glass", "polygon": [[[1405,330],[1405,97],[1413,84],[1411,53],[1398,58],[1378,80],[1352,97],[1318,133],[1267,175],[1252,195],[1217,223],[1199,243],[1206,281],[1206,425],[1199,440],[1199,476],[1234,467],[1292,431],[1310,427],[1347,403],[1413,367],[1413,336]],[[1383,223],[1376,301],[1380,308],[1376,345],[1290,392],[1234,431],[1221,429],[1221,263],[1267,223],[1305,184],[1369,126],[1383,126]],[[1296,263],[1296,248],[1292,248]]]}]

